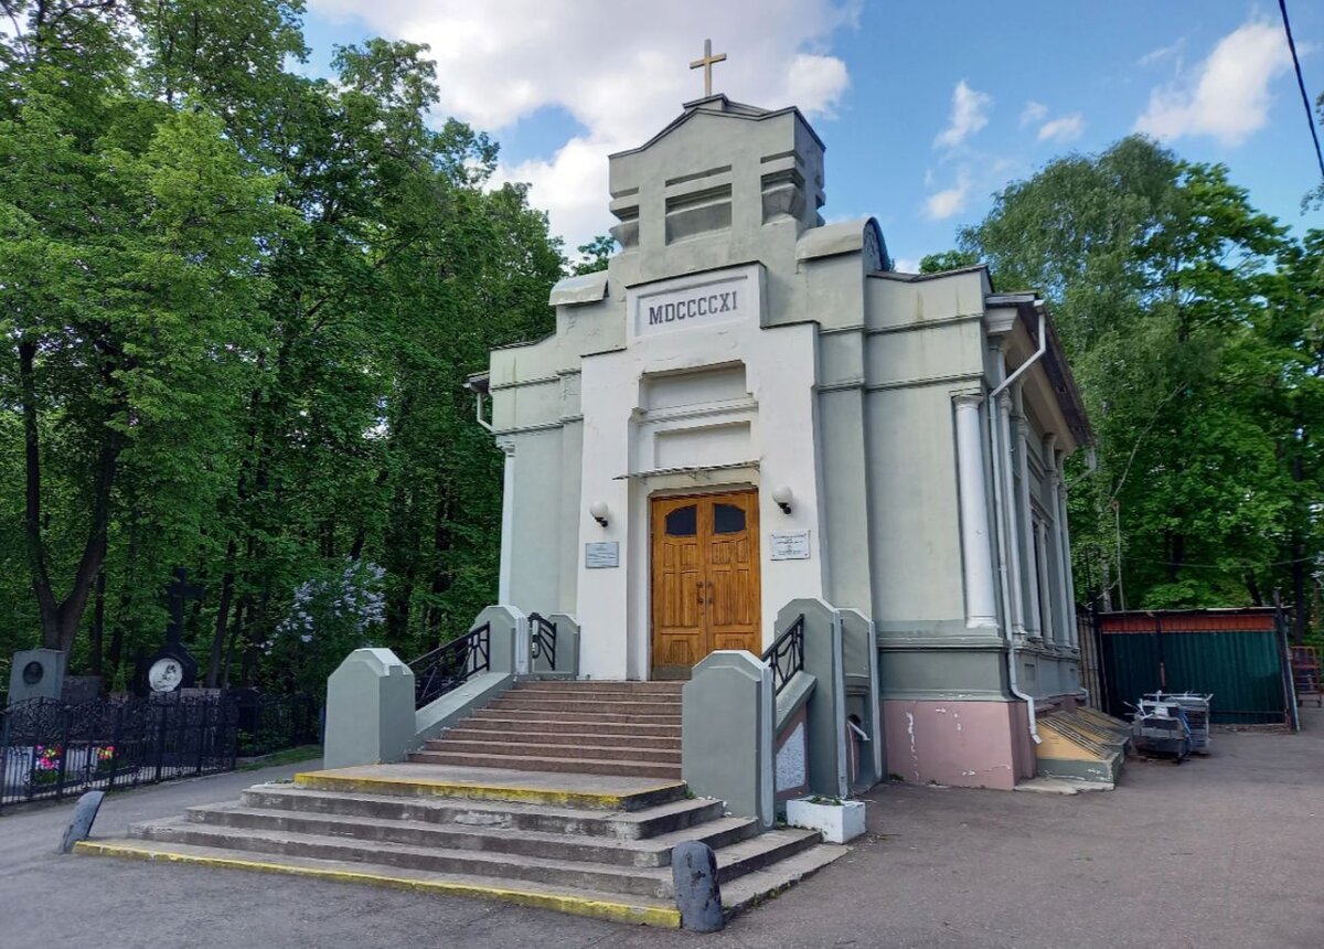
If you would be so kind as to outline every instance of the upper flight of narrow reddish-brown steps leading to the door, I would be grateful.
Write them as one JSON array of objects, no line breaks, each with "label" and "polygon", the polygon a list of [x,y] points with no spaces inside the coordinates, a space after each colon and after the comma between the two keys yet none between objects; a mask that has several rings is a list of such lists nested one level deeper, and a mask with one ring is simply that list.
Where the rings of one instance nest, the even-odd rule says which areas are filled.
[{"label": "upper flight of narrow reddish-brown steps leading to the door", "polygon": [[681,778],[679,682],[524,682],[409,760]]}]

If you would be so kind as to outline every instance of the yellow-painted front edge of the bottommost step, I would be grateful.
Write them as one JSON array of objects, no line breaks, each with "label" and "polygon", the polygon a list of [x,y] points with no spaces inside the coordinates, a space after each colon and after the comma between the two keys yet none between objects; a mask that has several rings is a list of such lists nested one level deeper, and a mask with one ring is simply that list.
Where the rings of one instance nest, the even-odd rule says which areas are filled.
[{"label": "yellow-painted front edge of the bottommost step", "polygon": [[429,893],[449,893],[451,896],[475,896],[479,899],[503,900],[506,903],[518,903],[523,907],[555,909],[556,912],[571,913],[572,916],[591,916],[593,919],[612,920],[616,923],[642,923],[645,925],[665,926],[669,929],[678,929],[681,926],[679,909],[634,907],[629,903],[610,903],[608,900],[591,900],[587,897],[565,896],[560,893],[540,893],[527,889],[506,889],[504,887],[487,887],[478,883],[412,880],[404,876],[388,876],[384,874],[371,874],[359,870],[330,870],[322,867],[302,867],[297,864],[265,863],[262,860],[237,860],[230,856],[177,854],[171,851],[148,850],[146,847],[131,847],[119,843],[98,843],[95,840],[79,840],[74,844],[74,852],[90,854],[95,856],[122,856],[136,860],[189,863],[201,867],[252,870],[260,874],[311,876],[314,879],[336,880],[339,883],[367,883],[376,887],[391,887],[393,889],[412,889],[416,892]]}]

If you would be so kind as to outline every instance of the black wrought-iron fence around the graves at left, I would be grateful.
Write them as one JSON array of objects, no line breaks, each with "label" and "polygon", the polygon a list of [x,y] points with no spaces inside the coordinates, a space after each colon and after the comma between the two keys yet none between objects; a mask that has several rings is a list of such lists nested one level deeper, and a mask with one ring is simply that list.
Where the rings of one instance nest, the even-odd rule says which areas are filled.
[{"label": "black wrought-iron fence around the graves at left", "polygon": [[312,696],[29,699],[0,708],[0,811],[234,769],[237,757],[312,744]]}]

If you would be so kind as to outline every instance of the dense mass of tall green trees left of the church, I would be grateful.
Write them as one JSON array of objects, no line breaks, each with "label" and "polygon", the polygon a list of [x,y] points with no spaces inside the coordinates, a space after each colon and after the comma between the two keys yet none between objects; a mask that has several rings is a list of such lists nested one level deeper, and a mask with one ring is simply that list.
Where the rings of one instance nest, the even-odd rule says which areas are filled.
[{"label": "dense mass of tall green trees left of the church", "polygon": [[278,630],[347,560],[385,570],[376,641],[463,631],[495,596],[500,457],[461,386],[551,328],[564,261],[490,187],[496,146],[428,124],[426,48],[338,49],[330,82],[287,68],[297,1],[7,11],[0,653],[122,682],[176,565],[209,684],[318,687],[355,635]]}]

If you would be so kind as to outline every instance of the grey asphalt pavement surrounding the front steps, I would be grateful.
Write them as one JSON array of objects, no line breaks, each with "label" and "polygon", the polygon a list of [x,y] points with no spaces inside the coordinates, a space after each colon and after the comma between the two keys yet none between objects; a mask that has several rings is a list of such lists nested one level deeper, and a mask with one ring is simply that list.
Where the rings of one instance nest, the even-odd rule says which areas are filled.
[{"label": "grey asphalt pavement surrounding the front steps", "polygon": [[[316,762],[111,795],[94,836],[233,799]],[[502,903],[62,856],[73,803],[0,815],[0,948],[953,946],[1320,949],[1324,715],[1215,733],[1181,766],[1132,760],[1074,797],[890,784],[870,834],[817,876],[698,936]]]}]

